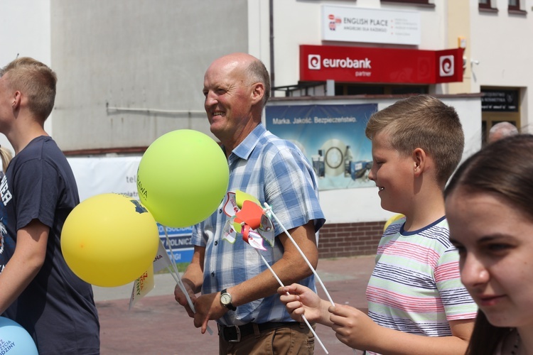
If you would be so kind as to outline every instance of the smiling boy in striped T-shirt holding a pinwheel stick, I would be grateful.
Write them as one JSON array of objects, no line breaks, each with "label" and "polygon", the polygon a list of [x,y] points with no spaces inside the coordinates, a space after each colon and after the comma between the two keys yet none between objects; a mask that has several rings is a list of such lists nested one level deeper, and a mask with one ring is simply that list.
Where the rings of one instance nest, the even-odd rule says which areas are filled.
[{"label": "smiling boy in striped T-shirt holding a pinwheel stick", "polygon": [[279,289],[281,301],[294,319],[305,312],[367,354],[464,354],[477,306],[461,283],[443,201],[463,153],[458,115],[434,97],[409,97],[373,114],[365,133],[381,205],[405,216],[379,241],[368,315],[296,284]]}]

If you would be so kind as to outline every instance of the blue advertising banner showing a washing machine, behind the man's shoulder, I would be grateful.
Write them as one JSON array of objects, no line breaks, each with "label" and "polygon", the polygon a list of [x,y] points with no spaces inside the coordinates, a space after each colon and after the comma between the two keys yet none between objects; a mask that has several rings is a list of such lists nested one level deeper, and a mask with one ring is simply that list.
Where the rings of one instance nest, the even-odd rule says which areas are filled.
[{"label": "blue advertising banner showing a washing machine, behind the man's shoulder", "polygon": [[372,187],[365,127],[375,111],[377,104],[267,106],[266,129],[301,149],[320,190]]}]

